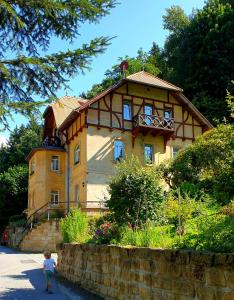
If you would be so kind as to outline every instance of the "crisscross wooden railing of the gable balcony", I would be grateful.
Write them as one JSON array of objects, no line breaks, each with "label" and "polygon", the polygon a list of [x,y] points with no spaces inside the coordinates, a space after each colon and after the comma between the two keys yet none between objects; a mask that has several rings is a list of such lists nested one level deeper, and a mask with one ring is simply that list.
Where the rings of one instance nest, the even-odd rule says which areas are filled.
[{"label": "crisscross wooden railing of the gable balcony", "polygon": [[174,119],[156,115],[137,114],[133,117],[133,127],[139,126],[174,130]]}]

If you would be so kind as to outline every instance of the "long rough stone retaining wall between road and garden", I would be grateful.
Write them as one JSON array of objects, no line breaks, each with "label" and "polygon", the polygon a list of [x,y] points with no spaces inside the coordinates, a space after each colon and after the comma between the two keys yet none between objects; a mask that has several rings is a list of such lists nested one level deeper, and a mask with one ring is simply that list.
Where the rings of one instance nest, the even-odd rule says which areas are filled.
[{"label": "long rough stone retaining wall between road and garden", "polygon": [[58,270],[105,299],[234,299],[234,254],[63,244]]}]

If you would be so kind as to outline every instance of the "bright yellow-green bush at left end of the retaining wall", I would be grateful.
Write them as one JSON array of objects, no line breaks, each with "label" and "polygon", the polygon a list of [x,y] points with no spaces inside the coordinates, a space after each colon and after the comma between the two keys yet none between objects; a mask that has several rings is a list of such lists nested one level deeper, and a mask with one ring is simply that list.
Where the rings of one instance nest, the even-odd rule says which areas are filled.
[{"label": "bright yellow-green bush at left end of the retaining wall", "polygon": [[72,209],[60,220],[64,243],[84,243],[90,239],[88,217],[79,209]]}]

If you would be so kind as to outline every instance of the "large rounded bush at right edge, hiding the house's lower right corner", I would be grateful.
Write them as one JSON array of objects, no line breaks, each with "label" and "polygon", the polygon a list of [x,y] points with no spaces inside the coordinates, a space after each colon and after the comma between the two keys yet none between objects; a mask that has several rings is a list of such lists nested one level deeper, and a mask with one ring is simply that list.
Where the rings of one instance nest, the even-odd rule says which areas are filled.
[{"label": "large rounded bush at right edge, hiding the house's lower right corner", "polygon": [[165,179],[178,186],[194,184],[226,204],[234,197],[234,127],[214,128],[181,150],[165,170]]}]

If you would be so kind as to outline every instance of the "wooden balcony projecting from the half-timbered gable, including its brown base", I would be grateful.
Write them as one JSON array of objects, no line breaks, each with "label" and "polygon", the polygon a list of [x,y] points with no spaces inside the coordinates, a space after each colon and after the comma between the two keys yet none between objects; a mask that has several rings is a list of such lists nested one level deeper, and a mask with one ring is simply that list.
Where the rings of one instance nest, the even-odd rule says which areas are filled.
[{"label": "wooden balcony projecting from the half-timbered gable, including its brown base", "polygon": [[137,114],[133,117],[133,131],[152,135],[170,135],[174,133],[173,118],[156,115]]}]

